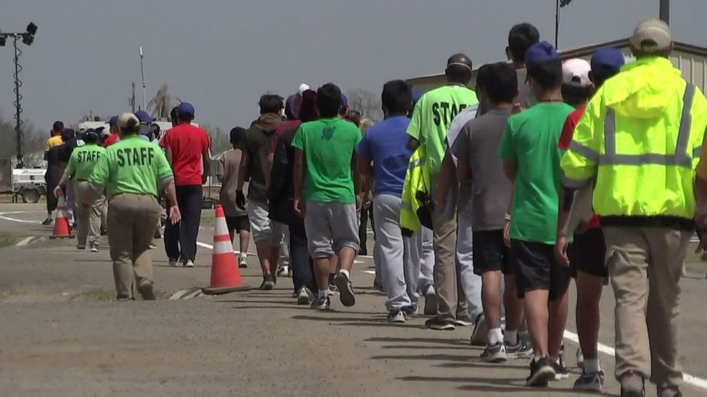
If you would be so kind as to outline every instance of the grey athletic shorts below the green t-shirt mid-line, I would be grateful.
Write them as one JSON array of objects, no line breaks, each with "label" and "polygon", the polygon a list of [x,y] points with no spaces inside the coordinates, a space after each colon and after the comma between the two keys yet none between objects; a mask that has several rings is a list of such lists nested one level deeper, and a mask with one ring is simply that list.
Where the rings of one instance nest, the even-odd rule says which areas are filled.
[{"label": "grey athletic shorts below the green t-shirt mid-line", "polygon": [[356,204],[307,201],[304,228],[309,255],[314,259],[331,258],[344,247],[358,252],[361,244]]}]

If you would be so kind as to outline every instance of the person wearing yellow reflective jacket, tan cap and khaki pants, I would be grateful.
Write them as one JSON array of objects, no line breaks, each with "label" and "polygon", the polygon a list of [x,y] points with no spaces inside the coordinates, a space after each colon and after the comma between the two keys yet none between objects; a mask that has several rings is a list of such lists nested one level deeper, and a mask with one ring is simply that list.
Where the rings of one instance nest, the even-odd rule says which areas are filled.
[{"label": "person wearing yellow reflective jacket, tan cap and khaki pants", "polygon": [[673,43],[666,23],[639,23],[629,45],[636,62],[587,105],[562,159],[563,184],[595,184],[592,204],[616,297],[621,396],[644,396],[651,374],[658,395],[674,397],[681,396],[682,380],[678,282],[694,227],[707,99],[668,59]]}]

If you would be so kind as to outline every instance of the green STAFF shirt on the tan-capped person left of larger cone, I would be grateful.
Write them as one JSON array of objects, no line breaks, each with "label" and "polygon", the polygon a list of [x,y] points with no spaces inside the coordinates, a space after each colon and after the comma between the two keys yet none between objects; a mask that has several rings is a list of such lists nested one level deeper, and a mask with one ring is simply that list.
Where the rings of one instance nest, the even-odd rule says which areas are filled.
[{"label": "green STAFF shirt on the tan-capped person left of larger cone", "polygon": [[152,194],[172,180],[172,168],[164,152],[138,135],[123,137],[110,145],[88,178],[93,186],[105,186],[108,198],[120,193]]}]

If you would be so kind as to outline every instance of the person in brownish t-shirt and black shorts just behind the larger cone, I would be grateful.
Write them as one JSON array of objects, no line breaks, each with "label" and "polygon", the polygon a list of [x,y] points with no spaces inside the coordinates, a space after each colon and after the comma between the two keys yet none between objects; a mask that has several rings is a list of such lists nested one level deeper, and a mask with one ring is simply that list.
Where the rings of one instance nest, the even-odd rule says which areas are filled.
[{"label": "person in brownish t-shirt and black shorts just behind the larger cone", "polygon": [[[235,127],[231,130],[230,141],[233,149],[221,155],[216,169],[216,176],[221,182],[219,201],[223,206],[223,211],[226,216],[226,224],[228,226],[228,234],[231,238],[231,243],[233,243],[235,233],[239,235],[239,268],[248,267],[248,244],[250,243],[248,212],[238,208],[236,204],[238,169],[241,165],[241,157],[243,156],[243,150],[240,148],[240,145],[243,141],[244,134],[245,129],[243,127]],[[247,184],[243,186],[243,189],[248,190]]]}]

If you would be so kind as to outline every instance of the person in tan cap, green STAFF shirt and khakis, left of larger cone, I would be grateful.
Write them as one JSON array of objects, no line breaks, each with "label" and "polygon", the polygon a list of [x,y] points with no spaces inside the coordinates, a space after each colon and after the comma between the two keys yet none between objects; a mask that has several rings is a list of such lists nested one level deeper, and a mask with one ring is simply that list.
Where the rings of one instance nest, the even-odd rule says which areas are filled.
[{"label": "person in tan cap, green STAFF shirt and khakis, left of larger cone", "polygon": [[167,157],[140,139],[140,120],[132,113],[118,119],[120,141],[98,159],[88,183],[98,193],[106,189],[108,243],[118,300],[132,300],[135,286],[144,300],[155,300],[150,243],[160,218],[158,191],[170,203],[169,222],[179,223],[174,175]]}]

